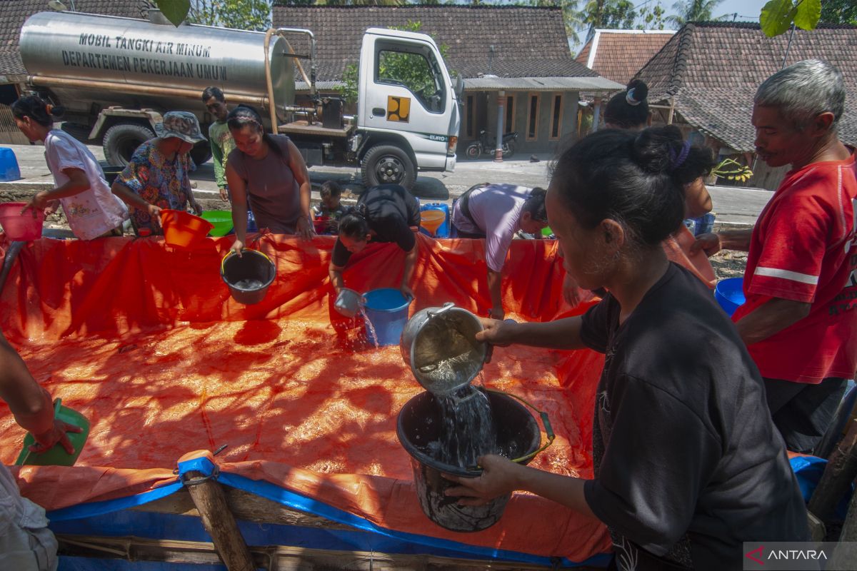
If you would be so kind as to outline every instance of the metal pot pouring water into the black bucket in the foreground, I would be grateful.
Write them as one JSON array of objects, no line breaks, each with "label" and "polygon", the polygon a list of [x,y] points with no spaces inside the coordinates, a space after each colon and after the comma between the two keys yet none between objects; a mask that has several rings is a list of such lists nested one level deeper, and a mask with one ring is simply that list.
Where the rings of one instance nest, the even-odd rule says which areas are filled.
[{"label": "metal pot pouring water into the black bucket in the foreground", "polygon": [[427,307],[405,324],[399,348],[417,382],[434,395],[452,395],[482,371],[488,345],[476,341],[482,322],[446,303]]}]

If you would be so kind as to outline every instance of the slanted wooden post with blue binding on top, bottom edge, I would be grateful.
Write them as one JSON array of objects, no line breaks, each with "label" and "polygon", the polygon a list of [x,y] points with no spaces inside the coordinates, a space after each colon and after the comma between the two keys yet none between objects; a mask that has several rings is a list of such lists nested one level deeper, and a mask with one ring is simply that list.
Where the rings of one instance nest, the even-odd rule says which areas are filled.
[{"label": "slanted wooden post with blue binding on top, bottom edge", "polygon": [[[226,503],[223,488],[213,479],[195,470],[186,475],[185,485],[196,509],[200,512],[202,525],[212,536],[214,549],[229,571],[254,571],[250,550],[238,530],[235,517]],[[195,484],[195,479],[205,479]]]}]

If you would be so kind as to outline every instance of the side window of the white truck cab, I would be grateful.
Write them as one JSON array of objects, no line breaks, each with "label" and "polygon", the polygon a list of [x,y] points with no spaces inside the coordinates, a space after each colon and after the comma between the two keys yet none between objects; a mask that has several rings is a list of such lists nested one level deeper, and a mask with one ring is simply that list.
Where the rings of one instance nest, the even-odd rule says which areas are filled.
[{"label": "side window of the white truck cab", "polygon": [[[430,58],[430,59],[429,59]],[[378,83],[404,86],[411,91],[426,110],[442,113],[446,90],[440,66],[434,56],[411,51],[381,50],[378,52]]]}]

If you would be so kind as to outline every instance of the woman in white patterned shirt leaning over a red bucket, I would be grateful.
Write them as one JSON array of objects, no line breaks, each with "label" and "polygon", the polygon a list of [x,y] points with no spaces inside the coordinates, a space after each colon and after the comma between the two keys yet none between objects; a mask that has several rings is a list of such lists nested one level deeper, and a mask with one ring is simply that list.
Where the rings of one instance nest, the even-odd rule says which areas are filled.
[{"label": "woman in white patterned shirt leaning over a red bucket", "polygon": [[71,231],[81,240],[122,235],[128,209],[111,194],[98,159],[86,145],[53,128],[54,117],[62,116],[63,109],[29,95],[12,104],[12,115],[27,139],[45,143],[45,160],[56,185],[36,193],[24,210],[33,209],[33,216],[37,210],[51,214],[62,204]]}]

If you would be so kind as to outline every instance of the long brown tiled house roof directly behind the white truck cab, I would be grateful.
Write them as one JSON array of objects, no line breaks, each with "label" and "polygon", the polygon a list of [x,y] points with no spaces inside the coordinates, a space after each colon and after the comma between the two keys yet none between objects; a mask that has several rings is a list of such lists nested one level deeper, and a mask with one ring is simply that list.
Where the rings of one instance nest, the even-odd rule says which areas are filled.
[{"label": "long brown tiled house roof directly behind the white truck cab", "polygon": [[[319,80],[339,80],[357,62],[369,27],[419,21],[420,32],[446,45],[446,65],[465,79],[500,77],[596,77],[568,49],[562,11],[556,8],[423,6],[274,6],[277,27],[315,33]],[[490,46],[494,46],[491,54]],[[298,50],[296,45],[296,50]]]}]

